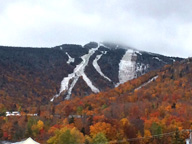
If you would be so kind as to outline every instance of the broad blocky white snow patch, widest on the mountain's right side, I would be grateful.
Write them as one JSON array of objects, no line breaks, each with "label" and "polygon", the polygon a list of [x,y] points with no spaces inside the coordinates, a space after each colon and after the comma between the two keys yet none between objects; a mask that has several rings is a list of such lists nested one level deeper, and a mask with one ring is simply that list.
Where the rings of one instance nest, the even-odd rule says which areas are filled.
[{"label": "broad blocky white snow patch, widest on the mountain's right side", "polygon": [[132,60],[136,57],[134,50],[128,49],[119,63],[119,83],[116,87],[128,80],[135,78],[136,62]]}]

